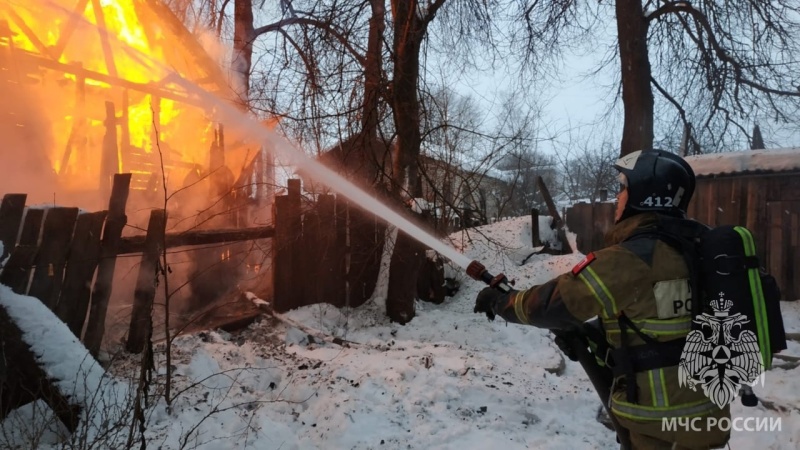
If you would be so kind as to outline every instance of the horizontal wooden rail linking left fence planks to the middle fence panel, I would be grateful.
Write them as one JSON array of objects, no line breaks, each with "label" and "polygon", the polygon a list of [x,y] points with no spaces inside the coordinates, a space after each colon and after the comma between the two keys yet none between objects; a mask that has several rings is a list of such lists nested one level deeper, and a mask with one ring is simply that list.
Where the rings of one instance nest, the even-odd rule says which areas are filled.
[{"label": "horizontal wooden rail linking left fence planks to the middle fence panel", "polygon": [[[180,233],[167,233],[167,248],[187,245],[222,244],[225,242],[252,241],[275,236],[275,227],[223,228],[218,230],[193,230]],[[118,255],[141,253],[145,248],[147,236],[127,236],[120,238]]]}]

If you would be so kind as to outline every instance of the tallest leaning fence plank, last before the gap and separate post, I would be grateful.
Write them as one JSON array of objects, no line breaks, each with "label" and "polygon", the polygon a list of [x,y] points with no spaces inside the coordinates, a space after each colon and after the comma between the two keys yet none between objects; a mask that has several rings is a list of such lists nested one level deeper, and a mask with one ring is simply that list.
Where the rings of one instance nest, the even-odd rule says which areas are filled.
[{"label": "tallest leaning fence plank, last before the gap and separate post", "polygon": [[128,221],[125,205],[128,203],[131,174],[114,175],[111,198],[108,201],[108,216],[103,229],[103,240],[100,243],[100,260],[97,265],[97,279],[92,288],[92,300],[89,307],[89,320],[83,343],[95,358],[100,353],[100,344],[105,334],[106,312],[111,297],[111,284],[114,280],[114,269],[117,265],[117,248],[119,247],[122,229]]}]

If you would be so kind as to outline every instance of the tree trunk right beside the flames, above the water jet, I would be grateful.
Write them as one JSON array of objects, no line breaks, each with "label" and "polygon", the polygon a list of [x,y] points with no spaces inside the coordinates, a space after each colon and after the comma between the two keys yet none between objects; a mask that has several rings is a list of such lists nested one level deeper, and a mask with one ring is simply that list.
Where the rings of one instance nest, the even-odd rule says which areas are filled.
[{"label": "tree trunk right beside the flames, above the water jet", "polygon": [[243,107],[250,99],[250,69],[253,65],[253,0],[235,0],[233,7],[233,59],[231,68],[239,79],[236,86],[237,101]]}]

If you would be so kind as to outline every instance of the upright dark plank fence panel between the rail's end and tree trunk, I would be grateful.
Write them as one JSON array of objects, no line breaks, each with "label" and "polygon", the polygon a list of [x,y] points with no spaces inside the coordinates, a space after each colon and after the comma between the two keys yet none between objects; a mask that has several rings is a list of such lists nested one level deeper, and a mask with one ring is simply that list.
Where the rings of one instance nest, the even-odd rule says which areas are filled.
[{"label": "upright dark plank fence panel between the rail's end and tree trunk", "polygon": [[356,307],[372,296],[386,229],[374,214],[333,195],[304,200],[295,179],[275,197],[274,217],[275,310]]}]

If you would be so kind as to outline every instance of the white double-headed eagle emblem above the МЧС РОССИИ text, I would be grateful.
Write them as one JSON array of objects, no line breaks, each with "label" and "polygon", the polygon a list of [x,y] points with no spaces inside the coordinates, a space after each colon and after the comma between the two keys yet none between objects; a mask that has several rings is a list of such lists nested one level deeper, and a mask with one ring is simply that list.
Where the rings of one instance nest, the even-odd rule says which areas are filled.
[{"label": "white double-headed eagle emblem above the \u041c\u0427\u0421 \u0420\u041e\u0421\u0421\u0418\u0418 text", "polygon": [[720,292],[711,301],[714,315],[701,314],[694,319],[700,329],[686,336],[678,365],[678,384],[693,391],[700,385],[703,393],[720,408],[736,398],[742,383],[763,382],[764,365],[758,338],[745,329],[747,316],[729,315],[733,302]]}]

